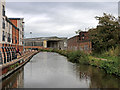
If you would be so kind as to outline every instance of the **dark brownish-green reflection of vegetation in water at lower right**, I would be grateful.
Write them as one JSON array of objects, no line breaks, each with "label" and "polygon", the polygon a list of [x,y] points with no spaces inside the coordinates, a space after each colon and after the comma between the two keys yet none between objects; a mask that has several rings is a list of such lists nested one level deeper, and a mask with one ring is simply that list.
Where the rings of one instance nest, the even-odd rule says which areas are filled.
[{"label": "dark brownish-green reflection of vegetation in water at lower right", "polygon": [[90,80],[89,88],[120,88],[120,78],[104,70],[87,65],[77,65],[76,70],[80,80]]}]

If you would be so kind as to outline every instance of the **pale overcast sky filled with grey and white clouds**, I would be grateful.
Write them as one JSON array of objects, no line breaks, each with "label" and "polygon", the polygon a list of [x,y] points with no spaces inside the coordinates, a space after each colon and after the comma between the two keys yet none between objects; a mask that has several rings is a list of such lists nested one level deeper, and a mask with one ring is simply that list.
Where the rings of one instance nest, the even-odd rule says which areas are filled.
[{"label": "pale overcast sky filled with grey and white clouds", "polygon": [[[96,27],[95,16],[118,16],[115,2],[7,2],[8,17],[24,18],[25,38],[72,37],[78,29]],[[88,30],[88,29],[86,29]]]}]

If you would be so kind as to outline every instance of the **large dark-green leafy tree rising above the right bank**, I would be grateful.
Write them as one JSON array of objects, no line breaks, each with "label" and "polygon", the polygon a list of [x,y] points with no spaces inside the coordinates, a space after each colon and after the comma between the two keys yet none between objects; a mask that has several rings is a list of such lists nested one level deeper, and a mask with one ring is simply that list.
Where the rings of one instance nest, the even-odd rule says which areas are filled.
[{"label": "large dark-green leafy tree rising above the right bank", "polygon": [[119,45],[120,29],[119,20],[110,14],[103,13],[102,17],[95,17],[99,20],[96,28],[90,29],[90,39],[95,52],[108,51]]}]

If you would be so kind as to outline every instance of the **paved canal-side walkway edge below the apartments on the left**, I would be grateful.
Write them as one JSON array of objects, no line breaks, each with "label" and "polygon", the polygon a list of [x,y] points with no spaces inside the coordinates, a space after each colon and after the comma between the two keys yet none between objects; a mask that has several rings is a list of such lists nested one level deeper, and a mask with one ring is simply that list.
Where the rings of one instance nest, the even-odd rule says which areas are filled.
[{"label": "paved canal-side walkway edge below the apartments on the left", "polygon": [[8,64],[3,64],[0,66],[1,75],[0,78],[3,80],[17,71],[19,68],[24,66],[29,60],[38,53],[38,51],[25,51],[24,55],[18,57],[14,61]]}]

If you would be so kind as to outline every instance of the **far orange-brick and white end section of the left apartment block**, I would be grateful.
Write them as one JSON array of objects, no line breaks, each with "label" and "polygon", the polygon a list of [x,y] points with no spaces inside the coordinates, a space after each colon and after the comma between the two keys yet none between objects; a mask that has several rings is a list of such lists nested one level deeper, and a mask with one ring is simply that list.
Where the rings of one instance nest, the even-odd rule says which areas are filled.
[{"label": "far orange-brick and white end section of the left apartment block", "polygon": [[23,30],[23,18],[9,18],[9,20],[15,25],[15,27],[19,29],[15,29],[12,27],[12,44],[16,45],[16,48],[19,48],[20,51],[23,51],[23,38],[24,38],[24,30]]}]

